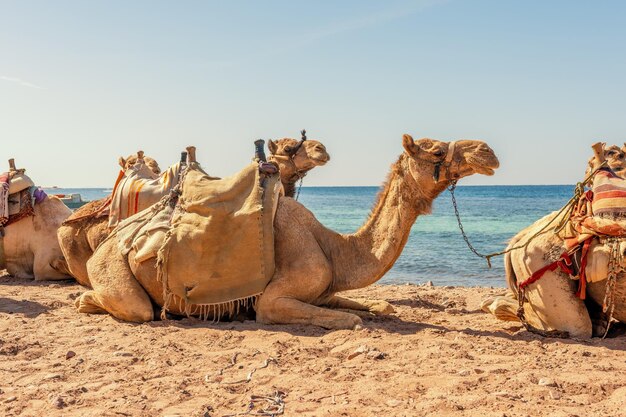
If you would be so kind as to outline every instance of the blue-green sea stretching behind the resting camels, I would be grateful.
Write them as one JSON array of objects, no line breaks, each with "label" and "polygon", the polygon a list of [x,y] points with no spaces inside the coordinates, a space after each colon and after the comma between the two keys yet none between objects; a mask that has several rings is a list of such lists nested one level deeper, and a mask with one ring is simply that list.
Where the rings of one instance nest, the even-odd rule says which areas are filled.
[{"label": "blue-green sea stretching behind the resting camels", "polygon": [[[299,201],[324,226],[351,233],[365,222],[378,187],[302,187]],[[503,250],[509,239],[571,198],[573,185],[459,186],[456,189],[464,229],[481,253]],[[107,196],[106,188],[57,188],[49,193],[80,193],[83,200]],[[433,212],[417,219],[411,235],[382,284],[505,287],[503,257],[492,267],[467,247],[458,227],[450,193],[435,200]]]}]

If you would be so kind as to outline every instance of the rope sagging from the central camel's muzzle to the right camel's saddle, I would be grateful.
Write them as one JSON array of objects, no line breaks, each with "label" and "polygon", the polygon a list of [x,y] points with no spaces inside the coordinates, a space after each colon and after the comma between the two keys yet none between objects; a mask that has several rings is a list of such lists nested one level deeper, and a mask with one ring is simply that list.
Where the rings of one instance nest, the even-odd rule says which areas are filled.
[{"label": "rope sagging from the central camel's muzzle to the right camel's saddle", "polygon": [[457,223],[459,225],[459,229],[461,230],[461,235],[463,236],[463,240],[465,240],[465,243],[467,244],[469,249],[476,256],[478,256],[479,258],[485,259],[487,261],[487,266],[489,268],[491,268],[491,258],[496,257],[496,256],[505,255],[505,254],[507,254],[509,252],[512,252],[514,250],[517,250],[517,249],[525,249],[525,248],[527,248],[528,245],[530,244],[530,242],[532,242],[538,236],[548,232],[548,228],[550,227],[550,225],[552,225],[556,219],[561,217],[562,214],[566,213],[566,215],[564,215],[561,218],[561,220],[559,221],[559,223],[552,229],[554,231],[554,233],[561,232],[565,228],[567,223],[569,222],[569,219],[570,219],[570,217],[572,215],[572,212],[574,211],[574,206],[576,205],[576,203],[578,203],[578,200],[580,200],[580,197],[584,194],[585,186],[588,185],[591,182],[591,180],[593,180],[593,178],[598,173],[598,171],[601,168],[603,168],[606,165],[606,163],[607,163],[607,161],[602,162],[602,164],[600,164],[596,169],[594,169],[583,181],[578,182],[576,184],[576,187],[574,188],[574,196],[572,198],[570,198],[569,201],[558,211],[556,216],[554,216],[545,226],[543,226],[541,229],[539,229],[539,231],[537,231],[530,238],[528,238],[528,240],[524,244],[513,246],[513,247],[507,248],[507,249],[505,249],[503,251],[494,252],[494,253],[490,253],[490,254],[483,254],[483,253],[478,252],[478,250],[476,250],[474,245],[472,245],[472,243],[470,242],[469,237],[465,233],[465,230],[463,229],[463,223],[461,221],[461,215],[459,214],[459,208],[458,208],[458,205],[457,205],[457,202],[456,202],[456,197],[454,195],[454,191],[456,190],[456,181],[452,181],[450,183],[450,186],[448,187],[448,191],[450,191],[450,195],[452,196],[452,205],[454,206],[454,214],[456,216]]}]

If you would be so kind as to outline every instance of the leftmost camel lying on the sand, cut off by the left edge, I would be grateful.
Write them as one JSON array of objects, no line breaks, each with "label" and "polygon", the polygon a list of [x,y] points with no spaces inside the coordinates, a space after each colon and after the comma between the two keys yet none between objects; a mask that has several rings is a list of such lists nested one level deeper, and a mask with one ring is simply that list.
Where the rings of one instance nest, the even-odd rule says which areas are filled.
[{"label": "leftmost camel lying on the sand, cut off by the left edge", "polygon": [[[59,247],[56,231],[63,221],[72,213],[61,200],[46,195],[35,187],[24,175],[24,169],[16,169],[13,159],[9,161],[8,177],[11,184],[26,181],[26,188],[11,194],[8,201],[28,196],[25,207],[30,208],[30,198],[34,196],[35,204],[30,214],[16,214],[8,218],[4,225],[4,238],[0,227],[0,269],[6,268],[10,275],[17,278],[34,278],[36,281],[69,279],[67,266]],[[30,185],[30,187],[29,187]],[[19,203],[18,203],[19,204]],[[29,210],[28,210],[29,211]],[[13,220],[12,221],[12,217]],[[3,259],[4,252],[4,259]]]}]

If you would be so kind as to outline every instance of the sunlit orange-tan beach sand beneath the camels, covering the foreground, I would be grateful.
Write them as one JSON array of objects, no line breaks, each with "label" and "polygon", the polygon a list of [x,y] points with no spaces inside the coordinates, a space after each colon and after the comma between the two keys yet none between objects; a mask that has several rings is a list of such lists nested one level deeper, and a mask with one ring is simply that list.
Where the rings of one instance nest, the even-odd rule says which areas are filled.
[{"label": "sunlit orange-tan beach sand beneath the camels, covering the foreground", "polygon": [[357,331],[129,324],[78,314],[82,291],[0,277],[0,415],[626,416],[626,336],[529,334],[479,310],[500,289],[354,291],[396,308]]}]

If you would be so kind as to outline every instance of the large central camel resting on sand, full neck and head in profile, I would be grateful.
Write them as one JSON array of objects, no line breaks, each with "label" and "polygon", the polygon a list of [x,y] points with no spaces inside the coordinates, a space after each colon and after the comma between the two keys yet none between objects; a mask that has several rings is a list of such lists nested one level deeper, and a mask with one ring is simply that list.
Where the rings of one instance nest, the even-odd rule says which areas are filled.
[{"label": "large central camel resting on sand, full neck and head in profile", "polygon": [[[404,135],[402,144],[404,152],[392,165],[369,218],[355,233],[329,230],[302,204],[279,198],[275,272],[255,304],[257,322],[352,329],[362,320],[346,309],[393,312],[385,301],[356,301],[336,294],[378,281],[402,252],[417,217],[430,213],[433,200],[453,181],[493,175],[499,166],[494,152],[481,141],[415,141]],[[163,307],[164,287],[155,259],[137,263],[136,254],[131,249],[123,255],[117,239],[104,241],[87,263],[93,290],[76,300],[78,311],[109,313],[131,322],[153,320],[152,302]],[[135,261],[129,263],[131,259]],[[202,279],[206,278],[197,277]],[[184,313],[176,302],[168,311]]]}]

